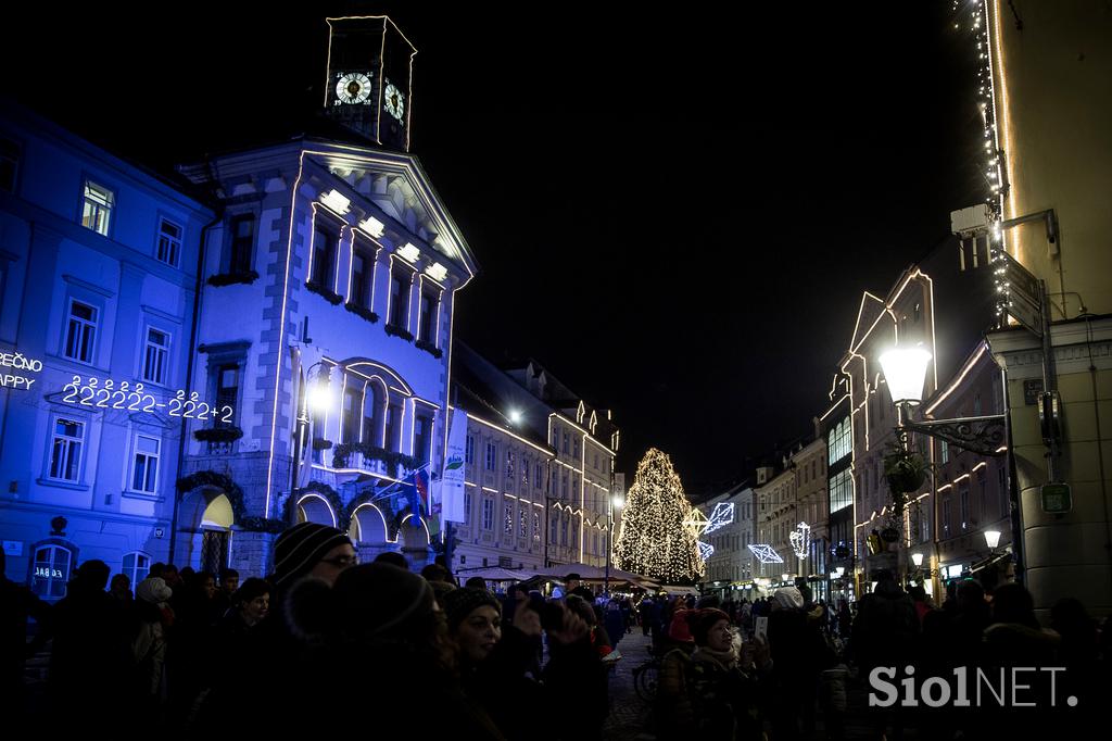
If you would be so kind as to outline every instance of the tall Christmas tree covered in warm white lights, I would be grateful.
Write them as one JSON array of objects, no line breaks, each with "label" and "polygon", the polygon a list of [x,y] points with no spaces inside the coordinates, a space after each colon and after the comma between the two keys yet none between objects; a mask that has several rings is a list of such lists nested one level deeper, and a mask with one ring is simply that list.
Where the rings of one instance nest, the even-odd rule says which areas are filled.
[{"label": "tall Christmas tree covered in warm white lights", "polygon": [[626,494],[622,532],[614,544],[617,567],[665,582],[701,576],[696,533],[685,524],[691,510],[672,460],[649,448]]}]

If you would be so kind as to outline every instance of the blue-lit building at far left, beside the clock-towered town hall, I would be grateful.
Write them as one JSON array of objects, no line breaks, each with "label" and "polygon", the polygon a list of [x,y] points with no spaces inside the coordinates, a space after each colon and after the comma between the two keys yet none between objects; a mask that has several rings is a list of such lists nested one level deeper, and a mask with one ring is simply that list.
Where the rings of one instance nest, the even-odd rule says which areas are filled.
[{"label": "blue-lit building at far left, beside the clock-towered town hall", "polygon": [[215,213],[8,105],[0,148],[0,539],[8,576],[58,597],[79,560],[135,579],[168,556],[166,403]]}]

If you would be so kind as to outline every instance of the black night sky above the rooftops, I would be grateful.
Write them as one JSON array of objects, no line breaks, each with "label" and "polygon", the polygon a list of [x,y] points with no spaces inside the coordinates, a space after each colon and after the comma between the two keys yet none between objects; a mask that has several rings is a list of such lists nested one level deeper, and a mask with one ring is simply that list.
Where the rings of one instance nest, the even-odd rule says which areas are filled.
[{"label": "black night sky above the rooftops", "polygon": [[[345,6],[232,4],[6,11],[3,90],[155,167],[269,141]],[[861,292],[983,197],[949,2],[477,4],[359,7],[419,49],[413,151],[484,268],[457,336],[614,408],[619,470],[697,492],[810,432]]]}]

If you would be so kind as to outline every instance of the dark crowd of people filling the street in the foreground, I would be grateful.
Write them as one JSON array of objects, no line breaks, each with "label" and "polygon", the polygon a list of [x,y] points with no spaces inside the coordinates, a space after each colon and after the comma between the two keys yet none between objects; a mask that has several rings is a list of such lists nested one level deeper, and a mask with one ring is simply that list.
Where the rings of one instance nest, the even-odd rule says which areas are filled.
[{"label": "dark crowd of people filling the street in the foreground", "polygon": [[[645,729],[659,739],[790,741],[817,738],[816,729],[843,738],[850,688],[867,692],[878,666],[917,683],[959,666],[1063,672],[1025,688],[1034,699],[1058,680],[1052,712],[896,703],[868,709],[876,738],[906,728],[927,738],[1002,729],[1026,738],[1086,718],[1110,696],[1108,622],[1100,630],[1080,602],[1063,600],[1043,629],[1019,584],[986,594],[976,581],[955,582],[936,606],[922,587],[905,592],[882,572],[870,594],[836,607],[806,586],[753,602],[645,595],[635,604],[597,595],[572,574],[552,597],[525,584],[498,596],[481,579],[459,585],[443,563],[419,574],[399,553],[359,564],[346,534],[315,523],[282,533],[274,564],[266,579],[242,581],[231,569],[155,564],[132,589],[89,560],[53,606],[4,579],[10,717],[27,711],[23,661],[49,641],[43,702],[59,730],[88,730],[123,703],[137,728],[186,737],[339,723],[405,738],[450,728],[467,739],[589,740],[603,738],[610,711],[616,648],[638,625],[659,662]],[[29,618],[39,629],[30,643]],[[576,722],[537,722],[548,709],[572,709]]]}]

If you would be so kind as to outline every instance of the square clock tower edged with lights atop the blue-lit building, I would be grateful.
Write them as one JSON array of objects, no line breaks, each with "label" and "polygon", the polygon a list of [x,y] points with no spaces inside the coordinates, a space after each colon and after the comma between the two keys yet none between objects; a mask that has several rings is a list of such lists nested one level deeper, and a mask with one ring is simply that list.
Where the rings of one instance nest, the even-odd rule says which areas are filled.
[{"label": "square clock tower edged with lights atop the blue-lit building", "polygon": [[326,115],[367,139],[409,151],[417,49],[386,16],[327,18]]}]

